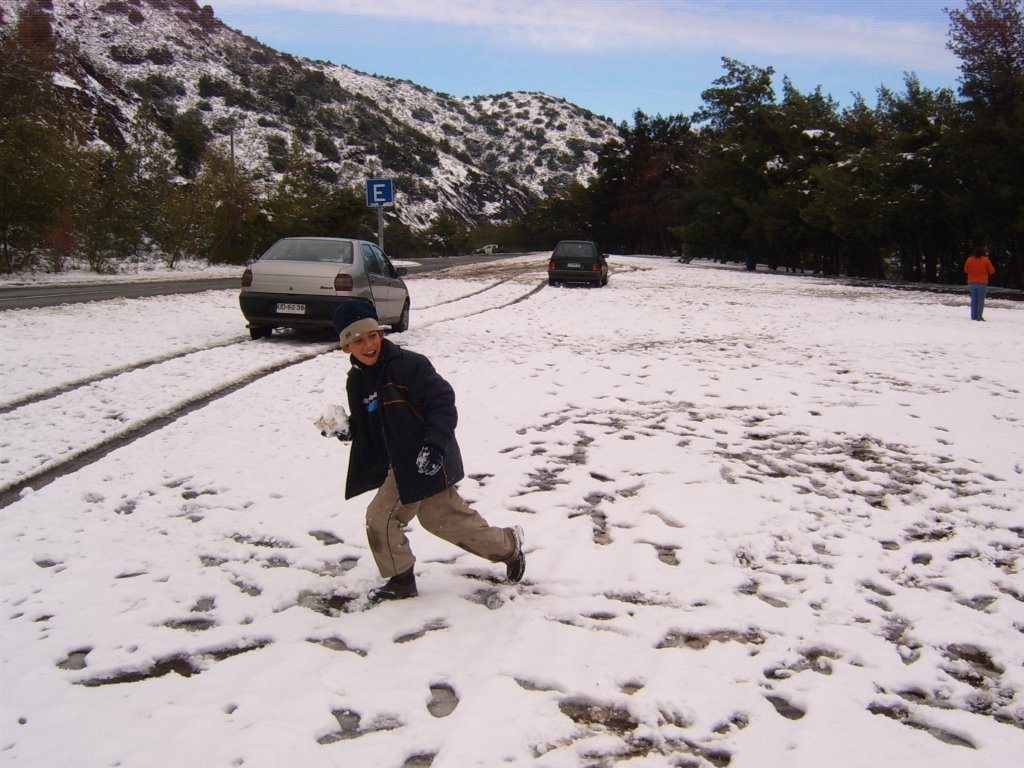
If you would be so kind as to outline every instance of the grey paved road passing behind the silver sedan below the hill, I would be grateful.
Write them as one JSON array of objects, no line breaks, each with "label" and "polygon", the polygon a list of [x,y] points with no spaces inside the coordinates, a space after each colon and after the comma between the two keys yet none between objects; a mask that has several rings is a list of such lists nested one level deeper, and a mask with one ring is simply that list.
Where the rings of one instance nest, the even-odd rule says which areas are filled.
[{"label": "grey paved road passing behind the silver sedan below the hill", "polygon": [[[443,269],[460,264],[493,261],[502,256],[454,256],[444,259],[424,259],[422,263],[409,267],[410,274]],[[176,293],[198,293],[200,291],[223,291],[239,288],[242,267],[238,276],[204,278],[201,280],[154,280],[125,283],[68,284],[49,286],[20,286],[0,288],[0,310],[30,309],[32,307],[76,304],[83,301],[104,301],[108,299],[137,299],[140,296],[166,296]]]}]

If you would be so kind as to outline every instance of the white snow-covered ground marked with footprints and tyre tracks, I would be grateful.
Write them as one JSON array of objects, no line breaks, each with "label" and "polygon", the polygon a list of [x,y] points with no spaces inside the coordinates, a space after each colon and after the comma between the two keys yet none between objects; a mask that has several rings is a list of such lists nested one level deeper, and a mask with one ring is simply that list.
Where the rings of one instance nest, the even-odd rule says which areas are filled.
[{"label": "white snow-covered ground marked with footprints and tyre tracks", "polygon": [[[0,764],[1020,761],[1024,305],[509,263],[411,279],[394,340],[454,384],[523,584],[414,523],[421,596],[330,608],[378,578],[312,426],[347,358],[313,356],[0,510]],[[0,407],[244,336],[232,291],[3,312]],[[9,410],[0,472],[313,343]]]}]

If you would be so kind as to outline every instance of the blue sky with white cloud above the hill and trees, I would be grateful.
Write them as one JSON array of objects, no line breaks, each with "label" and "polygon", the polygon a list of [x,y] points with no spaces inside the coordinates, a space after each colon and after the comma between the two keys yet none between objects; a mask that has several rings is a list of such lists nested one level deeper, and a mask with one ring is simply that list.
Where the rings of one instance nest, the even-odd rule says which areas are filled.
[{"label": "blue sky with white cloud above the hill and trees", "polygon": [[542,91],[615,122],[689,115],[729,56],[821,86],[957,85],[944,7],[964,0],[211,0],[278,50],[453,96]]}]

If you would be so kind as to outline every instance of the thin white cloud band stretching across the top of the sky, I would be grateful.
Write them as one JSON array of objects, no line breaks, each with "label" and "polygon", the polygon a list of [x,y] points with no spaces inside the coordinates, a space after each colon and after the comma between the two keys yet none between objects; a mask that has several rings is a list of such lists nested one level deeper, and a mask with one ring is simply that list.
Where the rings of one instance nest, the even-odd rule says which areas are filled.
[{"label": "thin white cloud band stretching across the top of the sky", "polygon": [[905,70],[953,70],[946,3],[726,0],[220,0],[220,8],[280,8],[476,28],[494,43],[567,52],[714,49],[826,55]]}]

